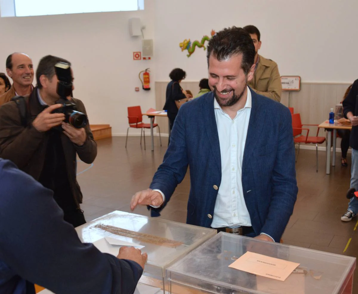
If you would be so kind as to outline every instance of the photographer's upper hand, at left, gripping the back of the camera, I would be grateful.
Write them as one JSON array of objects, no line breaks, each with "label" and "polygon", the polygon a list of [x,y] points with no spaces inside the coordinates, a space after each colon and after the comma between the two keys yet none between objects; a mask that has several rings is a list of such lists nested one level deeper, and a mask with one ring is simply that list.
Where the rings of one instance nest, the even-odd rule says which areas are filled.
[{"label": "photographer's upper hand, at left, gripping the back of the camera", "polygon": [[33,127],[39,132],[46,132],[50,128],[61,124],[65,119],[65,115],[63,113],[51,113],[61,107],[62,104],[54,104],[44,109],[32,122]]}]

